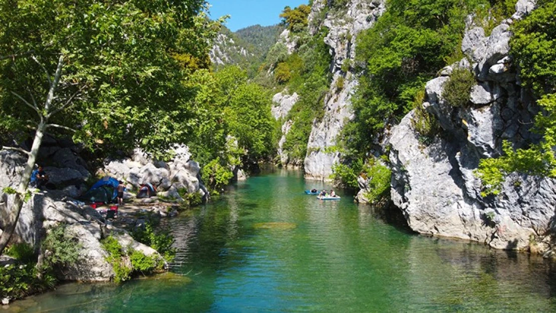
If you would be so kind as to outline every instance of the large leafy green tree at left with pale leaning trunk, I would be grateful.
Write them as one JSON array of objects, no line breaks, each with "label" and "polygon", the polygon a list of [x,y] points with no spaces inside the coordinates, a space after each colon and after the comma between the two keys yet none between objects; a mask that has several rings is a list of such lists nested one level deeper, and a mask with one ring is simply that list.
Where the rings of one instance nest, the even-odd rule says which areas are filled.
[{"label": "large leafy green tree at left with pale leaning trunk", "polygon": [[192,69],[206,59],[219,22],[203,0],[116,3],[0,0],[0,130],[34,131],[16,200],[0,236],[13,234],[44,133],[71,132],[88,147],[135,146],[161,156],[183,142],[194,119]]}]

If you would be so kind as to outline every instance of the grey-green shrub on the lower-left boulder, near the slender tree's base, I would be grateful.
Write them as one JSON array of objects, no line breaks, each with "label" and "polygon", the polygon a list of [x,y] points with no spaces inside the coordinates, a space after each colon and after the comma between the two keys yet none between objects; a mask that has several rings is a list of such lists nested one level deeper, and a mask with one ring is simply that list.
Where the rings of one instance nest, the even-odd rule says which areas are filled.
[{"label": "grey-green shrub on the lower-left boulder, near the slender tree's base", "polygon": [[44,269],[54,270],[71,266],[80,257],[81,244],[68,232],[66,224],[58,224],[48,230],[42,242],[42,251],[49,251],[44,258]]}]

